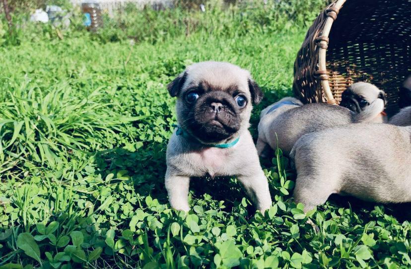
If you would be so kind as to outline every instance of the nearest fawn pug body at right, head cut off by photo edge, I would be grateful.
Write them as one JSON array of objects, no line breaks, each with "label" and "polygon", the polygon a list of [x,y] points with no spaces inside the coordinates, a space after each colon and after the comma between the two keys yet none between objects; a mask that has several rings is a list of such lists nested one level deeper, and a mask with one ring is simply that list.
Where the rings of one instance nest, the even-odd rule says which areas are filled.
[{"label": "nearest fawn pug body at right, head cut off by photo edge", "polygon": [[371,202],[411,202],[411,127],[351,124],[302,136],[291,154],[296,203],[304,210],[331,194]]}]

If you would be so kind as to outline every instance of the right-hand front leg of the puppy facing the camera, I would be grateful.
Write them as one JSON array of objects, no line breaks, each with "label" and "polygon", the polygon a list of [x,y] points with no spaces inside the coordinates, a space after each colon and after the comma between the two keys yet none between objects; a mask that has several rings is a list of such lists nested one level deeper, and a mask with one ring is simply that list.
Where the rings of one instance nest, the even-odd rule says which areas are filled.
[{"label": "right-hand front leg of the puppy facing the camera", "polygon": [[263,214],[264,211],[270,209],[272,204],[271,195],[268,186],[266,175],[262,169],[254,175],[242,175],[238,179],[244,185],[250,199],[255,203],[257,209]]}]

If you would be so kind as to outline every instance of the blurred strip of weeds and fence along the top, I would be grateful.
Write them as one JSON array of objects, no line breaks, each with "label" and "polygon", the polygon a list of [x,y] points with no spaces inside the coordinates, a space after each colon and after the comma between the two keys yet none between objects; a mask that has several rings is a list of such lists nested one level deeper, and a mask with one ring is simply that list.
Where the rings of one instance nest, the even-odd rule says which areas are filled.
[{"label": "blurred strip of weeds and fence along the top", "polygon": [[[327,0],[1,0],[0,46],[87,36],[155,43],[309,26]],[[89,32],[94,35],[89,35]]]}]

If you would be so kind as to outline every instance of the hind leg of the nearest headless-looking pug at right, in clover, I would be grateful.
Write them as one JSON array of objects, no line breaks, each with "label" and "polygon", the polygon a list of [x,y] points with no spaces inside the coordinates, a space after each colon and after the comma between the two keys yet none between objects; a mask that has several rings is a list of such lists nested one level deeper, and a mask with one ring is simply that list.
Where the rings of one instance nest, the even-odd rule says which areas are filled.
[{"label": "hind leg of the nearest headless-looking pug at right, in clover", "polygon": [[[328,182],[329,183],[329,182]],[[324,184],[315,176],[298,176],[295,181],[294,202],[304,204],[304,212],[324,204],[335,193],[332,184]]]}]

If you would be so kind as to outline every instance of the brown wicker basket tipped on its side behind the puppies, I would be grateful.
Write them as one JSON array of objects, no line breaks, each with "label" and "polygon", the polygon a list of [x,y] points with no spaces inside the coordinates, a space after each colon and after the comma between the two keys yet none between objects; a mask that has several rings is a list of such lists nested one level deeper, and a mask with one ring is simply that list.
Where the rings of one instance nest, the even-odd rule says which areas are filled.
[{"label": "brown wicker basket tipped on its side behind the puppies", "polygon": [[336,0],[307,32],[294,63],[294,94],[339,104],[342,91],[368,81],[387,93],[387,112],[411,73],[411,0]]}]

